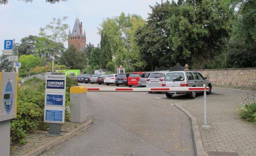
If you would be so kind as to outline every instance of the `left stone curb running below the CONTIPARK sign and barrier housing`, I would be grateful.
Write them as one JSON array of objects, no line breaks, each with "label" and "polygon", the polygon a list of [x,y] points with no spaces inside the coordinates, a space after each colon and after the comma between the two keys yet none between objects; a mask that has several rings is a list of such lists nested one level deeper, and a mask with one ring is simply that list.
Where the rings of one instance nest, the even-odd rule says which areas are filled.
[{"label": "left stone curb running below the CONTIPARK sign and barrier housing", "polygon": [[86,130],[87,128],[89,128],[91,126],[92,121],[93,121],[92,117],[87,116],[87,120],[86,120],[86,122],[84,122],[84,124],[80,125],[79,127],[75,128],[74,130],[70,130],[63,136],[59,136],[58,138],[55,138],[54,140],[49,141],[47,144],[44,144],[26,154],[24,154],[23,156],[39,156],[39,155],[41,155],[42,153],[46,152],[47,150],[50,150],[52,147],[54,147],[58,144],[61,144],[64,141],[68,140],[69,138],[72,138],[74,135],[82,132],[83,130]]}]

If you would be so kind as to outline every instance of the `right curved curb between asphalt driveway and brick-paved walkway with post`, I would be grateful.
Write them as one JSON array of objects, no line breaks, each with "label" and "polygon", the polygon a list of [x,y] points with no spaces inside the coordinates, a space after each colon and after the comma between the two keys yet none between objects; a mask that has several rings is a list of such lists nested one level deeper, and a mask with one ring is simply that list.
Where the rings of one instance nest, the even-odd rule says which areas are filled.
[{"label": "right curved curb between asphalt driveway and brick-paved walkway with post", "polygon": [[204,149],[204,144],[202,141],[201,133],[199,131],[196,118],[179,104],[174,104],[174,106],[182,110],[190,118],[190,121],[192,123],[192,133],[194,137],[194,146],[195,146],[196,156],[206,156],[206,151]]}]

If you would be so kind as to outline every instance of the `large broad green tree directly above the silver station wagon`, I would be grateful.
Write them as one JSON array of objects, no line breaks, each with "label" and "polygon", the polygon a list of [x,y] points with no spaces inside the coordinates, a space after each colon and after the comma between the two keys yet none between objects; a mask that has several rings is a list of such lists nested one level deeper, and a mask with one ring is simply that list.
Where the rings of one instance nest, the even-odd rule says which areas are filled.
[{"label": "large broad green tree directly above the silver station wagon", "polygon": [[225,0],[179,1],[168,20],[172,60],[202,68],[220,54],[230,32],[229,8]]}]

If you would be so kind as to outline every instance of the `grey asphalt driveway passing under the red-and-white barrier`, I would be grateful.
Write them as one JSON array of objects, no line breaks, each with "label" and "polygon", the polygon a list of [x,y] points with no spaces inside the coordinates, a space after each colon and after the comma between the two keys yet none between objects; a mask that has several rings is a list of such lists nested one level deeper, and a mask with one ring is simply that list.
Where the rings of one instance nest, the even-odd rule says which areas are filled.
[{"label": "grey asphalt driveway passing under the red-and-white barrier", "polygon": [[192,100],[174,95],[168,99],[163,93],[88,92],[92,127],[42,155],[195,155],[190,119],[173,104],[202,97],[198,94]]}]

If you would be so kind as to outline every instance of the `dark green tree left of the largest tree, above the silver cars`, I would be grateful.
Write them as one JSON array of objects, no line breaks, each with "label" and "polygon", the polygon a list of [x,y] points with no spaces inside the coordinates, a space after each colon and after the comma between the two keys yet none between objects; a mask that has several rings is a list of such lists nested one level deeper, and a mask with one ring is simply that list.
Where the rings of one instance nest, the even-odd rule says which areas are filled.
[{"label": "dark green tree left of the largest tree, above the silver cars", "polygon": [[172,50],[168,46],[170,27],[167,26],[167,20],[175,7],[175,2],[169,1],[150,6],[152,13],[145,26],[141,26],[135,34],[140,56],[148,63],[146,70],[153,71],[155,66],[174,65],[170,59]]}]

